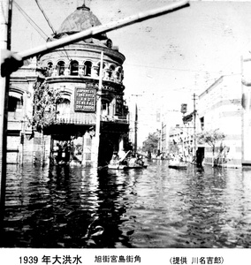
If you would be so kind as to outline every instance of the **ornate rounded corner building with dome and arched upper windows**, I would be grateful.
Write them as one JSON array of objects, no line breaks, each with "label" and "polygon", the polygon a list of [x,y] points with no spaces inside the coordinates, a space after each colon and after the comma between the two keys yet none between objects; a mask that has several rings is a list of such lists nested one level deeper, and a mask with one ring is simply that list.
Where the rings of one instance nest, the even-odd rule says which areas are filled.
[{"label": "ornate rounded corner building with dome and arched upper windows", "polygon": [[[99,19],[84,4],[65,19],[48,42],[99,25]],[[123,97],[124,61],[125,56],[118,51],[118,47],[113,47],[106,34],[96,34],[38,56],[36,78],[34,72],[30,77],[32,93],[27,79],[18,72],[13,74],[11,87],[20,87],[23,95],[29,95],[29,99],[28,96],[22,98],[22,117],[30,115],[33,123],[28,125],[25,121],[19,130],[12,128],[16,135],[8,134],[9,146],[13,140],[11,138],[20,136],[18,152],[15,153],[17,157],[9,154],[10,160],[16,159],[18,163],[72,162],[92,166],[95,159],[95,126],[100,120],[98,165],[109,163],[114,151],[128,145],[128,108]],[[15,75],[19,78],[15,78]],[[26,89],[27,93],[24,93]],[[45,91],[46,96],[54,96],[55,104],[47,106],[43,116],[38,117],[40,121],[44,119],[48,122],[37,126],[34,125],[34,116],[41,109],[35,96]],[[30,98],[33,98],[33,104]],[[100,119],[97,119],[98,100],[101,101]],[[12,111],[17,111],[17,108],[12,108]]]}]

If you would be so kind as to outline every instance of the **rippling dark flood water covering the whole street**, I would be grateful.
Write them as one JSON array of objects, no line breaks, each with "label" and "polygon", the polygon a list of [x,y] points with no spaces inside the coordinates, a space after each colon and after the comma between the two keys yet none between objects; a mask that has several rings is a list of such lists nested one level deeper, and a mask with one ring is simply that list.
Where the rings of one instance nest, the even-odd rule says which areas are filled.
[{"label": "rippling dark flood water covering the whole street", "polygon": [[7,172],[2,247],[251,246],[251,170]]}]

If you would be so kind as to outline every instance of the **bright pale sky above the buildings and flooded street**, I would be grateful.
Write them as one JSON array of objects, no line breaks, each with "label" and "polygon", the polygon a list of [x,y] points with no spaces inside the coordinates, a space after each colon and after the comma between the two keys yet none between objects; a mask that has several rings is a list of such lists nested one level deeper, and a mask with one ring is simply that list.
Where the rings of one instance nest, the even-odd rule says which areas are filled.
[{"label": "bright pale sky above the buildings and flooded street", "polygon": [[[52,34],[34,0],[14,2],[42,31]],[[39,0],[56,30],[75,11],[77,2],[82,3]],[[105,24],[171,2],[87,0],[86,4]],[[222,74],[239,74],[240,56],[251,50],[251,2],[191,1],[190,4],[183,10],[108,33],[125,55],[125,96],[132,111],[135,102],[139,107],[139,144],[160,127],[156,111],[179,117],[171,110],[180,110],[182,102],[188,103],[188,110],[192,111],[192,95],[199,95]],[[14,3],[12,49],[30,49],[44,42]]]}]

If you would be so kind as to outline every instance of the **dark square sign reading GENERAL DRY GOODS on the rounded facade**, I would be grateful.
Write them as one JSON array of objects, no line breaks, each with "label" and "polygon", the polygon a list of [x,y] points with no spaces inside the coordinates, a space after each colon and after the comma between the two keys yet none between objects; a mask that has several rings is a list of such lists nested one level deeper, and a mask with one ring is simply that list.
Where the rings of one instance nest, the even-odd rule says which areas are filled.
[{"label": "dark square sign reading GENERAL DRY GOODS on the rounded facade", "polygon": [[75,88],[75,111],[95,112],[95,88]]}]

